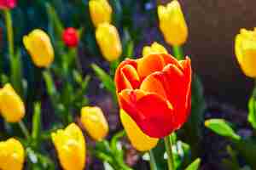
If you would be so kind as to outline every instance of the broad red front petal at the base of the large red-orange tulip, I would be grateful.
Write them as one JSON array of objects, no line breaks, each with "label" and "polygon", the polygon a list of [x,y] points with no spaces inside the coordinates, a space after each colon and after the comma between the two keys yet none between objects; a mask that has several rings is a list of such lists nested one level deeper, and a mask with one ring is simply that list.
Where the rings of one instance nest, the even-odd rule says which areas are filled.
[{"label": "broad red front petal at the base of the large red-orange tulip", "polygon": [[145,94],[142,90],[126,90],[119,95],[119,99],[121,108],[148,136],[161,138],[174,130],[172,105],[159,95]]}]

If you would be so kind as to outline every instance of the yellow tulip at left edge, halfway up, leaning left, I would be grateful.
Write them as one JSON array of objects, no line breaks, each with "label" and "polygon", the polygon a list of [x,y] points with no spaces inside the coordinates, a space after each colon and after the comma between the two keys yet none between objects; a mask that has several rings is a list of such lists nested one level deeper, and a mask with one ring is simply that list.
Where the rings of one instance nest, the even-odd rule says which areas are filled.
[{"label": "yellow tulip at left edge, halfway up, leaning left", "polygon": [[6,122],[20,122],[25,116],[24,103],[9,83],[0,89],[0,111]]}]

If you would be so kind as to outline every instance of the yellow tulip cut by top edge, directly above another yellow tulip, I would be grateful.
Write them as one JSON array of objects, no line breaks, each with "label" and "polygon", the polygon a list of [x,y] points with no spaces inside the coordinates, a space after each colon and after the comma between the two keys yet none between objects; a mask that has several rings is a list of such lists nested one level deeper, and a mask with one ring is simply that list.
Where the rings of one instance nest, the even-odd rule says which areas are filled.
[{"label": "yellow tulip cut by top edge, directly above another yellow tulip", "polygon": [[108,0],[90,0],[89,10],[90,18],[95,27],[104,22],[111,22],[112,8]]}]

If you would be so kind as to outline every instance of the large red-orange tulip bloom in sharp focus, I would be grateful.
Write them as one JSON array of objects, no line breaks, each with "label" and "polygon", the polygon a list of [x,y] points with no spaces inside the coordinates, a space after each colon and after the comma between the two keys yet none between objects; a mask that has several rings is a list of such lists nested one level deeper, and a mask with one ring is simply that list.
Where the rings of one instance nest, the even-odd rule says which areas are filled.
[{"label": "large red-orange tulip bloom in sharp focus", "polygon": [[162,138],[182,127],[191,105],[190,59],[169,54],[125,59],[116,73],[119,105],[144,133]]}]

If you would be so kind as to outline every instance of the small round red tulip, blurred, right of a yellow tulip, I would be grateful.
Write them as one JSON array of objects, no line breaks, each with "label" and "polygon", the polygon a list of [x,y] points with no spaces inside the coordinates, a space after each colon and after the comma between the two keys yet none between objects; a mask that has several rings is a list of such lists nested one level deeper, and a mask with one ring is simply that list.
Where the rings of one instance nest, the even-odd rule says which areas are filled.
[{"label": "small round red tulip, blurred, right of a yellow tulip", "polygon": [[69,48],[75,48],[79,44],[79,34],[73,27],[67,28],[62,33],[62,40]]}]

